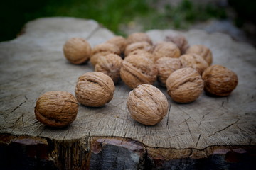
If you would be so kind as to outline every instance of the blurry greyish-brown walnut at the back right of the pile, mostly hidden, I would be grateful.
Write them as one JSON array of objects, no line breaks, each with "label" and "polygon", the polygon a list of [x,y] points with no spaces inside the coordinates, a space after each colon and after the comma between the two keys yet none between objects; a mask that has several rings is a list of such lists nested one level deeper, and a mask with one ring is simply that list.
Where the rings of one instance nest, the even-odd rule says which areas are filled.
[{"label": "blurry greyish-brown walnut at the back right of the pile, mostly hidden", "polygon": [[184,54],[188,49],[188,40],[186,40],[186,38],[181,34],[168,35],[165,40],[174,42],[174,44],[178,46],[179,50],[181,50],[181,54]]}]

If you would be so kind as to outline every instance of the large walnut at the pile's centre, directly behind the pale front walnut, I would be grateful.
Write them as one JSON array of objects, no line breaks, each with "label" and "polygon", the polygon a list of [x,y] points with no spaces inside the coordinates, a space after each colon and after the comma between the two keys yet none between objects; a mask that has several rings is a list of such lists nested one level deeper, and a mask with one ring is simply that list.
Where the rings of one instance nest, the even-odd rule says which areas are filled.
[{"label": "large walnut at the pile's centre, directly behind the pale front walnut", "polygon": [[139,84],[153,84],[157,69],[150,59],[141,55],[129,55],[122,63],[120,75],[122,81],[134,89]]}]

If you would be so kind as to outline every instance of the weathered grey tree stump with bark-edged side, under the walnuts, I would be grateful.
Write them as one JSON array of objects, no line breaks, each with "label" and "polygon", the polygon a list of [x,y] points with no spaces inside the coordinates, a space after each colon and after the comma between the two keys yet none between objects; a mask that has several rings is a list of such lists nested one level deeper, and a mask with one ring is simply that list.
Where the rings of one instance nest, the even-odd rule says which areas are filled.
[{"label": "weathered grey tree stump with bark-edged side, under the walnuts", "polygon": [[[174,32],[150,30],[147,34],[154,42],[158,42]],[[255,48],[235,42],[228,35],[220,33],[207,34],[202,30],[190,30],[182,34],[190,45],[209,47],[213,52],[213,64],[223,64],[238,74],[238,86],[229,97],[213,98],[202,94],[193,103],[177,104],[171,101],[166,89],[156,83],[154,85],[166,95],[171,108],[161,123],[146,126],[130,118],[126,107],[130,89],[121,82],[116,86],[114,98],[106,106],[80,106],[78,118],[70,126],[54,129],[36,121],[33,113],[36,99],[44,92],[53,90],[74,94],[78,77],[93,70],[89,63],[73,65],[65,60],[62,50],[65,40],[81,37],[95,46],[114,37],[114,34],[95,21],[75,18],[41,18],[29,22],[23,35],[0,43],[1,153],[10,150],[15,152],[13,146],[17,143],[17,137],[28,140],[36,137],[42,146],[46,145],[48,148],[48,163],[41,164],[38,160],[44,159],[37,156],[36,166],[58,169],[100,169],[99,167],[105,166],[99,166],[97,160],[108,157],[106,153],[110,150],[113,153],[123,152],[124,154],[119,154],[121,156],[129,155],[127,159],[134,158],[126,165],[116,164],[113,169],[126,166],[130,169],[168,169],[171,166],[196,169],[202,164],[207,166],[209,162],[214,164],[214,155],[219,155],[218,159],[221,157],[220,162],[225,164],[229,159],[224,159],[221,155],[226,157],[230,152],[230,155],[233,152],[242,154],[238,160],[241,159],[244,164],[247,164],[247,160],[250,162],[251,157],[255,159]],[[97,141],[94,137],[120,140],[121,144],[127,139],[129,142],[136,141],[142,151],[119,145],[116,141]],[[93,149],[95,141],[103,146],[102,149]],[[23,142],[18,143],[25,146]],[[38,146],[28,142],[28,146],[31,145]],[[21,149],[21,153],[25,151]],[[38,153],[44,152],[38,149]],[[245,159],[246,157],[250,159]],[[26,160],[30,162],[30,159]],[[123,161],[123,158],[117,159],[118,161]],[[223,168],[227,168],[227,164]],[[249,167],[251,165],[252,161]],[[8,162],[5,166],[8,166]],[[231,166],[233,167],[230,165],[228,168],[232,169]]]}]

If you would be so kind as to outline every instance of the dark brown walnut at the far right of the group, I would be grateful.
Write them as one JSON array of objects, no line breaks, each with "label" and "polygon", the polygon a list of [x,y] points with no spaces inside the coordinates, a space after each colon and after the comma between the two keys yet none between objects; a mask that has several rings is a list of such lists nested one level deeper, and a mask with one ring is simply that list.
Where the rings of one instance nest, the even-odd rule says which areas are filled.
[{"label": "dark brown walnut at the far right of the group", "polygon": [[215,96],[228,96],[238,85],[237,74],[221,65],[208,67],[202,78],[205,91]]}]

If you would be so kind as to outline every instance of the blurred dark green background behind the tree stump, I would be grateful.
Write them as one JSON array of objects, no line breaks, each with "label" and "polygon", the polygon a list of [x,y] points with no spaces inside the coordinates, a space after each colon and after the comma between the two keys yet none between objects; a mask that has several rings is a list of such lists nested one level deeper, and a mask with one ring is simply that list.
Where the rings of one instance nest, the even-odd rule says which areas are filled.
[{"label": "blurred dark green background behind the tree stump", "polygon": [[[233,6],[241,4],[230,1]],[[127,35],[127,29],[136,27],[142,31],[153,28],[184,30],[209,18],[225,19],[228,16],[226,6],[221,6],[220,3],[198,4],[191,0],[176,1],[175,5],[168,0],[9,0],[1,1],[0,6],[0,41],[16,38],[26,22],[50,16],[94,19],[117,35]],[[242,8],[245,10],[248,7]],[[242,26],[243,20],[244,16],[238,18],[238,26]]]}]

